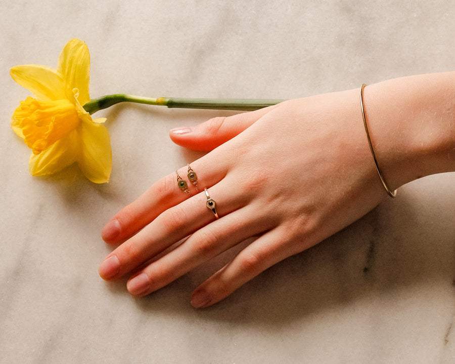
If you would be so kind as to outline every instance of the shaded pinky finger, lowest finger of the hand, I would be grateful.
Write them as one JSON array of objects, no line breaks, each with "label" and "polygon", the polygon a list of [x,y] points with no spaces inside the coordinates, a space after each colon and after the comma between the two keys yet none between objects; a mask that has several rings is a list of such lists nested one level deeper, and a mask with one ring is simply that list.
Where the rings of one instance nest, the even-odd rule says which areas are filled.
[{"label": "shaded pinky finger, lowest finger of the hand", "polygon": [[293,253],[284,248],[288,240],[289,236],[279,228],[265,233],[196,288],[191,295],[191,304],[196,308],[211,306],[265,269],[289,257]]}]

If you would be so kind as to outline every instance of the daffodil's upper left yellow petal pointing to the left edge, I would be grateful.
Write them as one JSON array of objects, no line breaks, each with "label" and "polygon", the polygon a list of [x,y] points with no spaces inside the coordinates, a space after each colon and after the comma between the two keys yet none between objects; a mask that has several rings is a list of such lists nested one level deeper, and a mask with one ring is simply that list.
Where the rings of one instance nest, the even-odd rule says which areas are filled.
[{"label": "daffodil's upper left yellow petal pointing to the left edge", "polygon": [[54,68],[27,64],[11,68],[10,75],[19,85],[42,100],[66,98],[64,80]]}]

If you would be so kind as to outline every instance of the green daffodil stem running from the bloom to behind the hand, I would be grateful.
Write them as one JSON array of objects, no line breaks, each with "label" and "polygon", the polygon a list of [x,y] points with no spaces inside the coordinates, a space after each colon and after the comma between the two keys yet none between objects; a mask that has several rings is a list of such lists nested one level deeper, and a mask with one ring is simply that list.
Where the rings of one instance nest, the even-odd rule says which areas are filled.
[{"label": "green daffodil stem running from the bloom to behind the hand", "polygon": [[135,102],[139,104],[179,107],[187,109],[212,109],[212,110],[241,110],[251,111],[263,107],[279,104],[285,100],[267,99],[181,99],[174,97],[149,97],[115,94],[92,99],[84,105],[85,111],[93,114],[98,110],[106,109],[119,102]]}]

